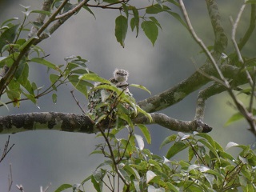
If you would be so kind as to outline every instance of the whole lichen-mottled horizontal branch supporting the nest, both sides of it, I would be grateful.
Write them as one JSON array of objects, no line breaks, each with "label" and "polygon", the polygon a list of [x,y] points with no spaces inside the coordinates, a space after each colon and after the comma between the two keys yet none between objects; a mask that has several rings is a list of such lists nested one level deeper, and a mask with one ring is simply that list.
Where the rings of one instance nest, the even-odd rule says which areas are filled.
[{"label": "whole lichen-mottled horizontal branch supporting the nest, both sides of it", "polygon": [[[212,128],[201,121],[180,121],[168,117],[166,114],[151,114],[150,122],[145,116],[135,118],[135,123],[158,124],[169,130],[182,132],[210,132]],[[93,134],[94,123],[90,118],[82,114],[69,114],[57,112],[14,114],[0,117],[0,134],[14,134],[27,130],[61,130],[67,132],[81,132]]]}]

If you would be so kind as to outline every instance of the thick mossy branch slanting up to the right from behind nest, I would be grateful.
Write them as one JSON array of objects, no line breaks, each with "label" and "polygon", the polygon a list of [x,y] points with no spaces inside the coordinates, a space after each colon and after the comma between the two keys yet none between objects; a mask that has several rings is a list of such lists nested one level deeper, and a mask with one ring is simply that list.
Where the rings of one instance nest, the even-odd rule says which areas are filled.
[{"label": "thick mossy branch slanting up to the right from behind nest", "polygon": [[[241,71],[240,68],[236,66],[223,65],[220,66],[220,70],[226,78],[234,79],[238,85],[246,83],[246,74],[244,71]],[[206,85],[206,83],[212,81],[200,71],[214,77],[218,75],[212,66],[205,64],[189,78],[186,78],[176,86],[173,86],[169,90],[165,90],[160,94],[146,98],[141,102],[138,102],[138,105],[141,106],[143,110],[146,110],[146,112],[152,113],[159,110],[164,110],[167,107],[180,102],[183,98],[186,98],[186,96],[193,93],[195,90],[198,90],[200,87]]]}]

